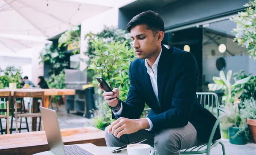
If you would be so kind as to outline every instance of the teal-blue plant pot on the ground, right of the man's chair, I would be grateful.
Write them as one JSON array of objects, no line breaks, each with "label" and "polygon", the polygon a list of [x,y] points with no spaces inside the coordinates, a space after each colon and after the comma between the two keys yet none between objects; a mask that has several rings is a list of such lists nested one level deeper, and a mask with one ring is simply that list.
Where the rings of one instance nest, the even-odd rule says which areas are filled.
[{"label": "teal-blue plant pot on the ground, right of the man's chair", "polygon": [[247,139],[245,137],[245,132],[239,133],[235,138],[232,138],[236,133],[239,132],[239,127],[228,128],[228,135],[231,144],[245,145],[247,144]]}]

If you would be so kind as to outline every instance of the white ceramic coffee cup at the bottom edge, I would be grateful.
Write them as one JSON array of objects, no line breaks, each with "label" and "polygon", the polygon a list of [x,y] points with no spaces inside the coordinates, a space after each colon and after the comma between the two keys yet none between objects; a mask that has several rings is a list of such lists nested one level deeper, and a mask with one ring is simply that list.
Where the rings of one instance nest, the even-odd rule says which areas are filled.
[{"label": "white ceramic coffee cup at the bottom edge", "polygon": [[128,155],[153,155],[154,148],[148,144],[130,144],[127,146]]}]

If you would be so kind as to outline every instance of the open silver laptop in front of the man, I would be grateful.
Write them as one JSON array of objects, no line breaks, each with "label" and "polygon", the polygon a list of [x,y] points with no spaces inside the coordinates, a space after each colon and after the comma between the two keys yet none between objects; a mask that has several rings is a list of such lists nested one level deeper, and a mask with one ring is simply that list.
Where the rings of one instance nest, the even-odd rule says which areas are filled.
[{"label": "open silver laptop in front of the man", "polygon": [[78,146],[64,146],[55,110],[40,106],[48,146],[55,155],[95,155]]}]

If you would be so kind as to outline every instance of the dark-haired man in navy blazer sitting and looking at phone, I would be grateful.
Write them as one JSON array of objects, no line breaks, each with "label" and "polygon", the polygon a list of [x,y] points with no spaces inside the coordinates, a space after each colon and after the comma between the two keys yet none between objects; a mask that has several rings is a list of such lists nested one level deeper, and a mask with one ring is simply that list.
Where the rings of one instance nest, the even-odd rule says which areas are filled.
[{"label": "dark-haired man in navy blazer sitting and looking at phone", "polygon": [[[216,118],[196,98],[200,73],[194,55],[161,44],[164,23],[154,11],[133,17],[127,30],[138,58],[130,64],[126,102],[118,99],[118,89],[113,89],[115,95],[103,93],[113,119],[118,118],[106,128],[107,146],[146,137],[159,155],[180,155],[180,149],[207,143]],[[151,111],[140,118],[145,103]],[[213,141],[220,138],[217,129]]]}]

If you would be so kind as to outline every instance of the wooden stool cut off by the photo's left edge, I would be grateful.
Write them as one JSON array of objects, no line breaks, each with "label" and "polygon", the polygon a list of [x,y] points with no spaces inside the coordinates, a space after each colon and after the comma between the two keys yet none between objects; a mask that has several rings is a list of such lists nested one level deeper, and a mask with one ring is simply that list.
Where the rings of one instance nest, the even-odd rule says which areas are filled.
[{"label": "wooden stool cut off by the photo's left edge", "polygon": [[6,114],[7,115],[0,115],[0,127],[1,127],[1,134],[3,134],[3,129],[2,129],[2,121],[1,118],[7,118],[6,121],[6,133],[9,134],[10,133],[10,129],[9,129],[9,103],[11,102],[11,92],[10,91],[6,91],[6,92],[0,92],[0,98],[8,98],[8,101],[6,102],[6,109],[1,109],[0,112],[5,112],[6,110]]}]

